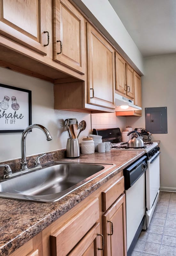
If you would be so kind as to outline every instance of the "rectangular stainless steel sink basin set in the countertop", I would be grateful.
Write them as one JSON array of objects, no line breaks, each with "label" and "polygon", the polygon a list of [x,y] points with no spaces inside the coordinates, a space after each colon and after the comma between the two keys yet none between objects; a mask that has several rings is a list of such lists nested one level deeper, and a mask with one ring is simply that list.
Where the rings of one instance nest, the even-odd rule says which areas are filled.
[{"label": "rectangular stainless steel sink basin set in the countertop", "polygon": [[112,164],[50,162],[42,165],[41,169],[7,180],[1,179],[0,197],[40,203],[55,202],[111,167]]}]

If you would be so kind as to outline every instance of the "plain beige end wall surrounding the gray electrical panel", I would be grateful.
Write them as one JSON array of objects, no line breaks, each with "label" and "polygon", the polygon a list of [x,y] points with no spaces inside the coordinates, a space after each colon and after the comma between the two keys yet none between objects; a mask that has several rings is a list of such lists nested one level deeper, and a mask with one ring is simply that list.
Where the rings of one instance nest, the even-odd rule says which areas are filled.
[{"label": "plain beige end wall surrounding the gray electrical panel", "polygon": [[142,117],[127,117],[126,124],[145,128],[145,108],[167,107],[168,134],[153,134],[161,140],[161,187],[176,191],[176,54],[145,59],[145,76],[142,77]]}]

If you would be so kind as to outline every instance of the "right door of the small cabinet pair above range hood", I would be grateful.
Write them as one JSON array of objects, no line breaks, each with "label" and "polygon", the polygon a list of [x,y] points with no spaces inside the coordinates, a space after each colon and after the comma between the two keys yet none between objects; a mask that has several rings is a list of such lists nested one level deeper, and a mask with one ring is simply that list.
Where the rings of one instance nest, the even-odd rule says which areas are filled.
[{"label": "right door of the small cabinet pair above range hood", "polygon": [[134,99],[134,70],[126,63],[126,95]]}]

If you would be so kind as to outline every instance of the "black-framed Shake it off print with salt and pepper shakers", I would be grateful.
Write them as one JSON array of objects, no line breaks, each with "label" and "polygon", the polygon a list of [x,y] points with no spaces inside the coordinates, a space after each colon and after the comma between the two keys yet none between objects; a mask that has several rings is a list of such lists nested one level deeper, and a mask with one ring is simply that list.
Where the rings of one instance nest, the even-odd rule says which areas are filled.
[{"label": "black-framed Shake it off print with salt and pepper shakers", "polygon": [[0,84],[0,133],[23,132],[30,124],[31,91]]}]

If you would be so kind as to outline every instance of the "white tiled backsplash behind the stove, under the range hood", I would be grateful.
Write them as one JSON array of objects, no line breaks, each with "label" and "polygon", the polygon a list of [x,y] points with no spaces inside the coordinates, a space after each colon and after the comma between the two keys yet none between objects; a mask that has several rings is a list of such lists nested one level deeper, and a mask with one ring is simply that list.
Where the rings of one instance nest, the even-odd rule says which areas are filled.
[{"label": "white tiled backsplash behind the stove, under the range hood", "polygon": [[126,117],[116,116],[116,113],[97,113],[92,114],[92,129],[108,129],[119,127],[124,130]]}]

